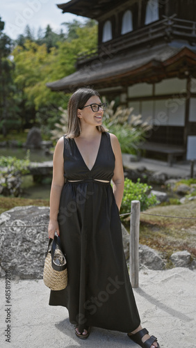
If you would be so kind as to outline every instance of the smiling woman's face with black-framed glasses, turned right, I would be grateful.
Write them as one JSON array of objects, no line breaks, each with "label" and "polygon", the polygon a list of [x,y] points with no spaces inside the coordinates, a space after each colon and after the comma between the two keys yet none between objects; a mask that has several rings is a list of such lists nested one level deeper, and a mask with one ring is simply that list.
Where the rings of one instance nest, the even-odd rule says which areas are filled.
[{"label": "smiling woman's face with black-framed glasses, turned right", "polygon": [[[88,125],[99,126],[102,123],[102,118],[104,115],[104,110],[99,107],[98,111],[92,111],[92,108],[96,110],[97,105],[101,104],[101,100],[97,95],[93,95],[90,99],[85,103],[83,109],[78,109],[78,117],[80,118],[81,124],[87,123]],[[88,106],[88,105],[92,105]]]}]

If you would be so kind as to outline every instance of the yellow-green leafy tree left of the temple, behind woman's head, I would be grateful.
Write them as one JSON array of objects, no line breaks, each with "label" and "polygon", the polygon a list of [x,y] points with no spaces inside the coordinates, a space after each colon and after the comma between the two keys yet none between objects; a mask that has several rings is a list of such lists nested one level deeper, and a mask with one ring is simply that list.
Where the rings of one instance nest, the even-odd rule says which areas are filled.
[{"label": "yellow-green leafy tree left of the temple, behind woman's head", "polygon": [[[50,35],[51,29],[48,27],[49,40]],[[13,51],[15,84],[24,101],[23,118],[28,110],[31,125],[43,125],[44,134],[54,128],[60,119],[59,107],[65,109],[68,98],[63,92],[51,92],[46,84],[72,74],[76,69],[77,54],[97,46],[97,25],[79,25],[76,36],[71,41],[59,41],[57,47],[49,50],[46,43],[38,45],[37,42],[26,40],[24,47],[17,46]]]}]

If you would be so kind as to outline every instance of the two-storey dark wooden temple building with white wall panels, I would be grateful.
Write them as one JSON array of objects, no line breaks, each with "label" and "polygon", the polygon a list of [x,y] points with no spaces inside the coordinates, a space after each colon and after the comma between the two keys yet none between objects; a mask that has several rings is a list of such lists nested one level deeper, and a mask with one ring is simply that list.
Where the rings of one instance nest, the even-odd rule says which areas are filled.
[{"label": "two-storey dark wooden temple building with white wall panels", "polygon": [[196,159],[196,0],[71,0],[58,8],[96,19],[98,45],[78,57],[76,72],[47,86],[119,97],[152,122],[143,148],[170,164]]}]

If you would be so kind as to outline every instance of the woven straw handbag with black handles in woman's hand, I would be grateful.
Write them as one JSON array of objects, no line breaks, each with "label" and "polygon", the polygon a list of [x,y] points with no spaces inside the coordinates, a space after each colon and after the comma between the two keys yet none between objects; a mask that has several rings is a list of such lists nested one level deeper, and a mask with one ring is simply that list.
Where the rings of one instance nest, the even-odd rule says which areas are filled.
[{"label": "woven straw handbag with black handles in woman's hand", "polygon": [[49,239],[43,280],[51,290],[63,290],[67,286],[67,262],[58,235],[54,235],[54,239]]}]

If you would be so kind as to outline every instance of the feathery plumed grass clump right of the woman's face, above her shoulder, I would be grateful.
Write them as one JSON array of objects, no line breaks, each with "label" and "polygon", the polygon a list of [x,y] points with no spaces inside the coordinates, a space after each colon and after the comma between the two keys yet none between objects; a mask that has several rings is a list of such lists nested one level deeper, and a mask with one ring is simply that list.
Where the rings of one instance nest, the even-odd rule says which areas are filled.
[{"label": "feathery plumed grass clump right of the woman's face, above her shoulder", "polygon": [[133,108],[124,109],[118,106],[114,111],[114,106],[114,101],[108,105],[104,114],[104,125],[117,136],[122,152],[136,155],[141,141],[145,140],[145,132],[151,126],[142,122],[141,115],[132,114]]}]

